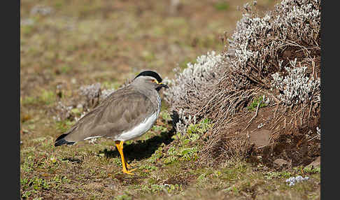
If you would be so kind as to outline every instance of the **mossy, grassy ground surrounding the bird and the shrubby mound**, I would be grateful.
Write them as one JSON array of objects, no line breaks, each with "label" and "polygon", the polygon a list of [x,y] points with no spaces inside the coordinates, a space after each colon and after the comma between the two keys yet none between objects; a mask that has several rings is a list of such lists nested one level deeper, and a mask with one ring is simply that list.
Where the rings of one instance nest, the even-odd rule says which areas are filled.
[{"label": "mossy, grassy ground surrounding the bird and the shrubby mound", "polygon": [[[199,162],[203,144],[197,137],[208,121],[181,136],[164,102],[157,124],[125,144],[129,163],[138,168],[134,176],[121,173],[113,141],[54,147],[55,138],[75,122],[56,120],[58,101],[79,96],[83,85],[117,89],[143,69],[172,78],[176,66],[183,69],[199,55],[223,50],[221,38],[232,33],[241,17],[237,6],[247,1],[179,2],[171,7],[171,1],[149,0],[21,1],[22,199],[320,199],[318,168]],[[277,2],[257,6],[270,10]],[[309,180],[285,183],[298,175]]]}]

